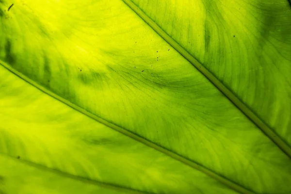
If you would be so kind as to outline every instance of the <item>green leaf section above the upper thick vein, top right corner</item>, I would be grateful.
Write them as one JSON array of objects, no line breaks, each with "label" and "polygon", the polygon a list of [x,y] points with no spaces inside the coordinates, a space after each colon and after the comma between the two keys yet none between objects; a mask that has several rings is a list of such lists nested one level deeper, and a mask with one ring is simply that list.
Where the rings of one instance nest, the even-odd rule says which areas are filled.
[{"label": "green leaf section above the upper thick vein, top right corner", "polygon": [[131,1],[291,146],[288,0]]}]

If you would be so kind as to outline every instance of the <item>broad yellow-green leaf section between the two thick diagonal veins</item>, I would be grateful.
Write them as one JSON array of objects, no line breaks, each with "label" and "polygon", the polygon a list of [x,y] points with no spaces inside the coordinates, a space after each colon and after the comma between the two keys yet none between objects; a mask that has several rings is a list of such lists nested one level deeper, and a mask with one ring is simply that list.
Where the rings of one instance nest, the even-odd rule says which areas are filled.
[{"label": "broad yellow-green leaf section between the two thick diagonal veins", "polygon": [[[85,9],[77,9],[73,3],[71,4],[72,9],[79,10],[80,13],[70,12],[73,19],[63,25],[62,21],[57,21],[54,16],[44,20],[42,17],[50,17],[50,15],[44,16],[41,9],[35,9],[39,6],[37,2],[34,3],[35,7],[32,7],[33,3],[31,2],[30,6],[34,8],[31,9],[36,12],[36,16],[33,18],[35,21],[33,20],[32,24],[26,20],[14,21],[17,25],[21,24],[23,29],[30,29],[29,32],[26,32],[28,34],[19,33],[15,27],[17,25],[14,26],[13,23],[4,29],[8,29],[8,32],[19,39],[26,39],[33,34],[39,42],[34,42],[33,45],[32,42],[28,44],[25,40],[23,45],[19,45],[19,47],[28,46],[24,55],[21,55],[19,47],[12,44],[13,42],[10,43],[11,46],[6,46],[10,48],[6,49],[9,50],[8,56],[14,56],[10,58],[15,59],[14,63],[10,65],[55,94],[78,104],[84,110],[129,129],[159,146],[162,145],[177,152],[184,158],[202,163],[212,171],[239,182],[245,188],[259,192],[277,192],[278,188],[282,191],[289,191],[286,185],[285,187],[281,186],[281,180],[290,177],[290,169],[288,167],[282,168],[282,165],[278,165],[278,163],[281,162],[280,164],[288,166],[290,160],[278,152],[273,143],[257,131],[255,126],[248,123],[248,120],[191,64],[179,56],[177,52],[168,52],[169,45],[149,30],[121,2],[114,1],[114,3],[116,4],[110,7],[113,12],[109,13],[116,12],[120,18],[116,19],[114,13],[115,17],[112,16],[114,20],[110,20],[110,23],[99,19],[98,22],[105,22],[102,25],[106,27],[106,31],[102,31],[104,29],[100,28],[100,31],[98,29],[92,34],[88,34],[88,32],[91,33],[89,29],[93,28],[93,25],[86,28],[88,26],[84,24],[87,23],[77,20],[75,26],[78,24],[80,27],[85,27],[84,29],[76,29],[72,28],[71,23],[75,22],[75,18],[79,14],[83,15],[85,21],[89,21],[91,24],[91,20],[86,18],[92,14],[90,10],[104,6],[93,4],[93,6],[80,6],[85,7]],[[47,5],[46,9],[48,7],[49,10],[57,9],[55,13],[60,18],[68,14],[66,11],[60,12],[62,4],[52,7]],[[26,9],[23,9],[22,12],[31,13]],[[123,12],[124,14],[122,14]],[[104,13],[97,14],[100,16],[96,15],[93,18],[102,18]],[[106,14],[104,16],[107,16]],[[130,21],[122,23],[129,18]],[[60,29],[55,31],[57,28],[47,21]],[[98,22],[97,24],[99,24]],[[129,23],[133,23],[133,27]],[[38,24],[38,26],[34,26],[34,24]],[[100,27],[100,24],[94,24]],[[117,26],[118,31],[114,30],[112,26],[115,28]],[[137,29],[137,31],[130,32],[132,29]],[[54,30],[53,32],[57,32],[57,34],[52,35],[50,30]],[[122,31],[128,34],[120,33]],[[33,33],[30,34],[31,32]],[[43,32],[46,32],[45,36],[43,36]],[[122,34],[122,38],[120,38],[120,34],[115,35],[114,33]],[[144,37],[139,37],[137,34],[143,34]],[[96,35],[99,37],[96,38]],[[70,38],[67,40],[66,36]],[[130,39],[131,36],[137,39],[133,41]],[[150,43],[151,38],[154,39],[153,43]],[[92,42],[94,43],[92,44]],[[133,46],[134,42],[141,42],[143,45],[136,47]],[[44,47],[46,54],[35,53],[35,51],[43,50],[39,49],[38,45],[46,45]],[[52,48],[50,48],[51,45]],[[155,45],[159,45],[159,47]],[[76,48],[76,46],[79,47]],[[97,49],[96,46],[98,46]],[[67,51],[68,48],[72,49],[70,51],[73,54]],[[86,54],[84,50],[89,51],[89,54]],[[137,56],[133,54],[133,50],[136,51]],[[159,55],[157,56],[157,54]],[[80,62],[76,56],[83,61]],[[92,56],[101,60],[94,60]],[[134,58],[135,62],[131,62],[129,58]],[[7,59],[7,57],[4,58],[6,61]],[[49,59],[50,63],[44,59]],[[23,64],[27,66],[23,66]],[[154,67],[151,67],[151,64]],[[133,65],[136,65],[137,68]],[[31,66],[32,69],[30,69]],[[83,68],[80,68],[81,66]],[[151,70],[152,68],[155,68],[155,71]],[[44,73],[48,72],[48,69],[52,72],[49,74],[49,84],[46,79],[48,76]],[[153,75],[151,72],[154,76],[151,76]],[[112,96],[112,94],[115,95]],[[213,100],[216,104],[212,103]],[[128,112],[130,118],[126,115]],[[138,114],[143,115],[143,117],[139,117]],[[235,115],[235,119],[233,115]],[[237,122],[242,126],[237,126]],[[159,131],[153,129],[159,129]],[[232,129],[239,131],[239,134],[245,139],[242,141],[241,138],[238,138],[238,133]],[[264,155],[261,156],[261,153]],[[225,163],[221,162],[220,158],[223,158]],[[240,158],[241,161],[237,161],[237,158]],[[232,166],[230,170],[228,170],[229,166]],[[269,171],[265,172],[254,166],[265,166]],[[250,174],[244,177],[245,169],[250,167],[252,168]],[[240,172],[238,176],[234,175],[237,170]],[[255,180],[250,177],[255,177]],[[256,182],[255,185],[254,182]],[[270,182],[270,184],[265,185],[265,182]]]}]

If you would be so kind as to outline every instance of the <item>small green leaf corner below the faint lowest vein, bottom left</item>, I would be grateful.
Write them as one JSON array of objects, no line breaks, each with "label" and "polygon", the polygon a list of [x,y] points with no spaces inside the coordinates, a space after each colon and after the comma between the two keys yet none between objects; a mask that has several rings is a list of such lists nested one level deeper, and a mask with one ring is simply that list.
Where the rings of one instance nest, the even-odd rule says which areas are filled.
[{"label": "small green leaf corner below the faint lowest vein, bottom left", "polygon": [[0,155],[0,194],[126,194]]}]

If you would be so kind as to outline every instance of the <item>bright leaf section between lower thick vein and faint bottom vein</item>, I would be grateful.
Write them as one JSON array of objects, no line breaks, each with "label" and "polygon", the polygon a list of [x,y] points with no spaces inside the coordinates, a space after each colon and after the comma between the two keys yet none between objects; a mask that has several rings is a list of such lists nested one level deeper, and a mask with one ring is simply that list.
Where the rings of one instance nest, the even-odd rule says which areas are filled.
[{"label": "bright leaf section between lower thick vein and faint bottom vein", "polygon": [[[95,180],[97,184],[103,182],[149,193],[235,194],[204,173],[68,107],[2,66],[0,78],[2,154]],[[4,170],[9,172],[13,168],[8,169],[9,165],[9,161],[1,161],[0,176],[4,179],[10,176]],[[30,173],[21,166],[29,168],[20,165],[14,173],[25,178]],[[40,180],[44,182],[47,178],[45,173],[35,176],[44,177]],[[17,185],[19,180],[14,179],[10,181]]]}]

